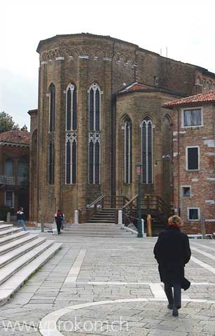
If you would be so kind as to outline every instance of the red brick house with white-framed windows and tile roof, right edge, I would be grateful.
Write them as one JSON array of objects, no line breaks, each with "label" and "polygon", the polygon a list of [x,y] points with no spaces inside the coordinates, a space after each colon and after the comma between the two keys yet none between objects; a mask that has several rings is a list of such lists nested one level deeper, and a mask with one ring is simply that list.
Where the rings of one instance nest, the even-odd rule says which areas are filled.
[{"label": "red brick house with white-framed windows and tile roof, right edge", "polygon": [[164,104],[173,111],[174,209],[193,234],[215,232],[214,103],[211,91]]}]

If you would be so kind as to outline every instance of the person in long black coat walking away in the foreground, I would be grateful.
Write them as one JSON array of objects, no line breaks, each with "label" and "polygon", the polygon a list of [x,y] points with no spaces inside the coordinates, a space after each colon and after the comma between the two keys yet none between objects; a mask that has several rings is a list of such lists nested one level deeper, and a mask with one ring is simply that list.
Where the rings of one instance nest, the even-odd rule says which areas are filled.
[{"label": "person in long black coat walking away in the foreground", "polygon": [[181,288],[186,290],[190,287],[190,281],[184,277],[184,266],[191,256],[190,244],[188,236],[181,232],[180,225],[181,218],[179,216],[170,217],[167,230],[160,232],[154,247],[160,281],[165,284],[165,293],[169,302],[168,308],[173,309],[173,316],[179,316]]}]

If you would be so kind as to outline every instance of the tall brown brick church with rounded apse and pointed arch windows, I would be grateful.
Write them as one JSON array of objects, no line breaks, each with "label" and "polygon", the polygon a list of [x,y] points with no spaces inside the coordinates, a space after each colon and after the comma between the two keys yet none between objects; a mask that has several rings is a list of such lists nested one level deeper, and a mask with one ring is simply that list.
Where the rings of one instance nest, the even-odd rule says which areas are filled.
[{"label": "tall brown brick church with rounded apse and pointed arch windows", "polygon": [[179,126],[165,103],[215,90],[215,74],[110,36],[57,35],[40,41],[37,52],[39,106],[29,111],[31,221],[43,216],[53,223],[62,209],[74,223],[78,209],[85,222],[99,197],[102,206],[109,202],[128,214],[137,201],[137,162],[143,215],[180,212],[173,164]]}]

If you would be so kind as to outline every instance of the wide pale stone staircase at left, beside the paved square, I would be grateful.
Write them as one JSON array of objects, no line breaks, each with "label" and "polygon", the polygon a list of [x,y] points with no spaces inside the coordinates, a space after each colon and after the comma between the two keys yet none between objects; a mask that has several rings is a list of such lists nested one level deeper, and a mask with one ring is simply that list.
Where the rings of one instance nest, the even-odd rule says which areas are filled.
[{"label": "wide pale stone staircase at left, beside the paved square", "polygon": [[50,259],[62,244],[0,223],[0,305]]}]

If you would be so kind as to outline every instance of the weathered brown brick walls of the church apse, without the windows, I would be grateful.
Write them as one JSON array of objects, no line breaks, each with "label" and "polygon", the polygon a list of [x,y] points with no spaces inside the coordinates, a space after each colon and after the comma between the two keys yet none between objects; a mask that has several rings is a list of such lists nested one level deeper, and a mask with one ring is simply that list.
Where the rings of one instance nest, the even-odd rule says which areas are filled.
[{"label": "weathered brown brick walls of the church apse, without the windows", "polygon": [[[129,84],[139,80],[153,85],[156,82],[181,94],[195,94],[197,76],[205,77],[207,80],[210,78],[213,83],[215,78],[215,75],[205,69],[201,70],[190,64],[166,59],[155,52],[108,36],[90,34],[55,36],[42,41],[38,52],[40,68],[37,158],[35,159],[37,174],[32,176],[32,186],[34,185],[31,193],[31,207],[34,207],[32,221],[39,221],[43,214],[45,222],[53,222],[53,214],[57,207],[60,207],[67,221],[71,223],[75,209],[85,209],[86,204],[101,194],[110,195],[116,192],[123,195],[127,193],[128,197],[134,195],[137,189],[135,183],[132,186],[123,186],[122,190],[118,189],[122,184],[117,167],[122,165],[122,158],[120,162],[118,161],[120,151],[118,127],[122,123],[123,113],[128,113],[128,106],[131,106],[131,118],[134,118],[135,137],[132,141],[134,141],[133,148],[137,148],[134,162],[140,155],[139,123],[147,113],[153,117],[155,125],[154,158],[158,160],[162,158],[167,147],[164,136],[166,137],[169,126],[162,120],[167,112],[162,111],[160,105],[166,101],[165,99],[173,99],[177,96],[168,97],[168,94],[161,93],[144,96],[137,93],[127,97],[126,102],[123,102],[123,98],[118,99],[115,109],[113,94],[116,94],[124,83]],[[99,84],[103,92],[101,99],[102,183],[100,186],[88,184],[88,89],[94,82]],[[51,83],[55,85],[56,90],[55,186],[48,184],[49,98],[47,94]],[[75,186],[67,186],[64,183],[66,106],[64,91],[69,83],[74,83],[78,90],[78,171]],[[168,151],[170,149],[172,148],[168,148]],[[154,191],[158,195],[165,195],[168,200],[172,200],[172,186],[166,186],[164,191],[164,170],[166,171],[158,162],[158,167],[154,169],[155,182],[152,187],[145,187],[145,190],[147,189],[148,193]],[[135,181],[135,172],[133,175],[133,181]],[[37,200],[36,206],[33,205],[35,200]]]}]

